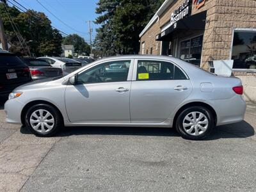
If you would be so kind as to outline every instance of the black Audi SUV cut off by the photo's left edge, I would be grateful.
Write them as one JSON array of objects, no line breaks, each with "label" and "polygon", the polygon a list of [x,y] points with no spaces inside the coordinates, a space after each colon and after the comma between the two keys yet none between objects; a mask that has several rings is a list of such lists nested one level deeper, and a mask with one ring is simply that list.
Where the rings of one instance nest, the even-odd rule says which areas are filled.
[{"label": "black Audi SUV cut off by the photo's left edge", "polygon": [[19,57],[0,51],[0,97],[7,97],[17,86],[31,80],[28,66]]}]

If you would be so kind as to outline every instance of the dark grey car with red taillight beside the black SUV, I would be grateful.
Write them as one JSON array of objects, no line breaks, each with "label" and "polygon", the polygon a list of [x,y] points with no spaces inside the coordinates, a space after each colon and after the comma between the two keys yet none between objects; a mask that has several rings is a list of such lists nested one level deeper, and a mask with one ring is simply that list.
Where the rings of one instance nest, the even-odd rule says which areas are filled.
[{"label": "dark grey car with red taillight beside the black SUV", "polygon": [[35,58],[22,58],[22,61],[28,65],[33,80],[63,76],[63,71],[61,68],[52,67],[44,60]]}]

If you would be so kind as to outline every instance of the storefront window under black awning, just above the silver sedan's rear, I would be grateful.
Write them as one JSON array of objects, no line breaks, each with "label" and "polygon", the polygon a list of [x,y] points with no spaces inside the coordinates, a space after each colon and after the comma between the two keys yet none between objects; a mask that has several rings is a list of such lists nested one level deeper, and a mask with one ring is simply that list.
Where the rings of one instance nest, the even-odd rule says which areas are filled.
[{"label": "storefront window under black awning, just above the silver sedan's rear", "polygon": [[180,59],[200,66],[203,35],[180,42]]}]

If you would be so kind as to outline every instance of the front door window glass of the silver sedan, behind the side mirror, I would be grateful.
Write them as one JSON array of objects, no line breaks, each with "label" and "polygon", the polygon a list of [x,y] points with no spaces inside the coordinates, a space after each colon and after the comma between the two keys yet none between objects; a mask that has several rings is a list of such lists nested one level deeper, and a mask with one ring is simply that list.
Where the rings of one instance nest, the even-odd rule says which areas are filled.
[{"label": "front door window glass of the silver sedan, behind the side mirror", "polygon": [[127,81],[131,60],[110,61],[92,67],[77,76],[77,83],[110,83]]}]

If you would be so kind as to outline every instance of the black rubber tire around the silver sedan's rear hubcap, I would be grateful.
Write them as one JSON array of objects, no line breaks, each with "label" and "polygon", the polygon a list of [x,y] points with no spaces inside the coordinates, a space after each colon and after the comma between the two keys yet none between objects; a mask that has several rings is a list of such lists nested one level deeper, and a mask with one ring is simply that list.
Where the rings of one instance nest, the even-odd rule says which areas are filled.
[{"label": "black rubber tire around the silver sedan's rear hubcap", "polygon": [[[192,112],[199,112],[199,113],[203,113],[207,120],[208,120],[208,126],[206,131],[202,132],[202,134],[199,135],[191,135],[194,134],[195,132],[192,132],[191,134],[189,134],[188,132],[186,132],[186,130],[188,131],[188,129],[185,129],[183,126],[183,121],[184,118],[189,115],[189,113]],[[211,111],[209,111],[209,109],[204,108],[202,106],[193,106],[193,107],[189,107],[187,109],[184,109],[179,116],[177,117],[176,120],[176,129],[177,132],[179,132],[180,136],[182,136],[182,138],[186,139],[186,140],[202,140],[204,138],[206,138],[207,136],[209,136],[209,134],[211,133],[212,129],[214,128],[215,124],[214,124],[214,117],[211,113]],[[201,129],[199,129],[200,131],[202,131]]]}]

